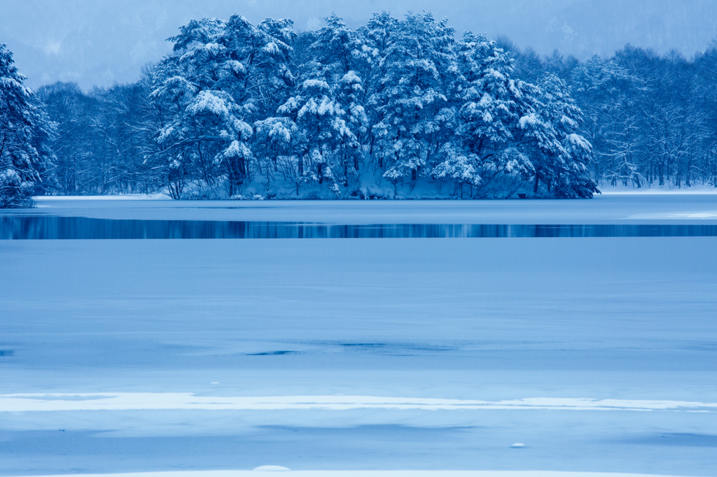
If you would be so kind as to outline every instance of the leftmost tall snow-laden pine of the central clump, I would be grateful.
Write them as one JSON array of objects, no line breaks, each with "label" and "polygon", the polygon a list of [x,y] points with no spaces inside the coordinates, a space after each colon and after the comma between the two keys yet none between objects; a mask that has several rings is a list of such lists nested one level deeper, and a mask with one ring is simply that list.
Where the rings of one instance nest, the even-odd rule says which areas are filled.
[{"label": "leftmost tall snow-laden pine of the central clump", "polygon": [[158,141],[170,170],[191,169],[205,183],[227,178],[229,196],[250,174],[250,124],[270,116],[293,84],[289,20],[257,26],[243,16],[190,21],[158,72],[153,96],[176,108]]}]

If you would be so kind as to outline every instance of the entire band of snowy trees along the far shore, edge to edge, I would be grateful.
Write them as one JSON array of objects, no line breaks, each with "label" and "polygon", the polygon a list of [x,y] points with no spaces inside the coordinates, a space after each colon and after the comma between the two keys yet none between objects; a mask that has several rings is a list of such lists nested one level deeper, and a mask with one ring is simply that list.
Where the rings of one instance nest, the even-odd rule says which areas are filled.
[{"label": "entire band of snowy trees along the far shore, edge to edge", "polygon": [[191,21],[130,85],[30,92],[0,47],[0,206],[39,194],[587,198],[717,186],[717,44],[541,57],[430,14]]}]

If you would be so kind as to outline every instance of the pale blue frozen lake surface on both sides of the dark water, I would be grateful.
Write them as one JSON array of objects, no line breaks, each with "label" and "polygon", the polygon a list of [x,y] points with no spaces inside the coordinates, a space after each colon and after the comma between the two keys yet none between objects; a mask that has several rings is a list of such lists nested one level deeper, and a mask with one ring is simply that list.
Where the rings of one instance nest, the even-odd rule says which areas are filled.
[{"label": "pale blue frozen lake surface on both sides of the dark water", "polygon": [[[19,218],[710,230],[717,195],[39,198],[3,238]],[[0,240],[0,475],[717,476],[717,237],[387,236]]]}]

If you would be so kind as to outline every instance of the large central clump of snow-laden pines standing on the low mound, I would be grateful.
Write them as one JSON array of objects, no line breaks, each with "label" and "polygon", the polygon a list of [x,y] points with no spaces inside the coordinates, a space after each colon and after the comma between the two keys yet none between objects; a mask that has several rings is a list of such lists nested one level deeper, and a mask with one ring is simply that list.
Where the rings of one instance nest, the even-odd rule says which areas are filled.
[{"label": "large central clump of snow-laden pines standing on the low mound", "polygon": [[327,184],[336,196],[356,195],[362,176],[394,193],[419,180],[472,197],[495,196],[506,181],[505,196],[597,190],[564,82],[517,80],[485,36],[456,41],[446,20],[425,13],[375,14],[356,30],[336,15],[314,32],[291,26],[235,15],[190,21],[171,39],[151,95],[168,174],[226,181],[229,196],[277,174],[297,193]]}]

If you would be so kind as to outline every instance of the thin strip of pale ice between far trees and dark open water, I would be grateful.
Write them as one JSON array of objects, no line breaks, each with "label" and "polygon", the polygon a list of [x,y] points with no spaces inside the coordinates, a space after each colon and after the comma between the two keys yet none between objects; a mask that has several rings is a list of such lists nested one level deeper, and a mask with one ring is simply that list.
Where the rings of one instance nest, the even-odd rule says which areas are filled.
[{"label": "thin strip of pale ice between far trees and dark open water", "polygon": [[[717,194],[606,194],[513,201],[171,201],[141,196],[37,198],[35,209],[0,211],[148,220],[326,223],[717,223]],[[132,200],[135,199],[135,200]],[[695,216],[694,214],[698,214]]]}]

